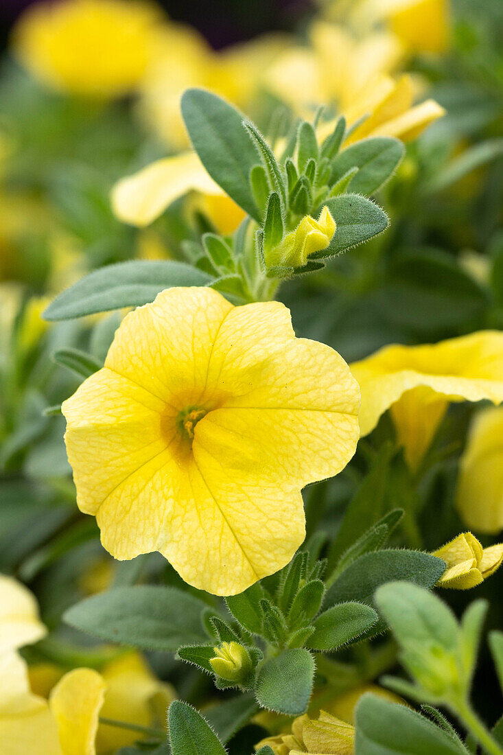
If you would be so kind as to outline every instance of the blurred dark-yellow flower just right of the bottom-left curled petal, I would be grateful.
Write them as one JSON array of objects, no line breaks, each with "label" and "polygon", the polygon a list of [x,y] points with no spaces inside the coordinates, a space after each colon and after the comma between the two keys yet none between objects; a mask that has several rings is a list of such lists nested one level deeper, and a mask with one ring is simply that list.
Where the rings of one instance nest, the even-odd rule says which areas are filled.
[{"label": "blurred dark-yellow flower just right of the bottom-left curled petal", "polygon": [[[106,664],[101,673],[106,683],[100,711],[103,718],[137,726],[165,728],[168,705],[175,697],[174,689],[156,679],[139,653],[121,655]],[[138,732],[100,723],[96,738],[97,752],[115,752],[119,747],[133,744],[140,736]]]}]

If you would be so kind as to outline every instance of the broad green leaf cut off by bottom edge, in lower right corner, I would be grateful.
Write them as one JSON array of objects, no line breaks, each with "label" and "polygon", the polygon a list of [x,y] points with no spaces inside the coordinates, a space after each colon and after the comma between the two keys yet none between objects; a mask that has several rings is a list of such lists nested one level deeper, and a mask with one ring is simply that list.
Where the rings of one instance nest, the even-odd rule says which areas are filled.
[{"label": "broad green leaf cut off by bottom edge, in lower right corner", "polygon": [[405,705],[366,693],[356,706],[355,755],[460,755],[464,749]]}]

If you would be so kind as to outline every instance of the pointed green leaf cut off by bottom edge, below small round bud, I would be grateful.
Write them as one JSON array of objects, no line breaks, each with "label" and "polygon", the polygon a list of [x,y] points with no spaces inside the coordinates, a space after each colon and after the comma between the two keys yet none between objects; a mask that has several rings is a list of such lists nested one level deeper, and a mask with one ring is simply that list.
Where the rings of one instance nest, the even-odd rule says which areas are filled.
[{"label": "pointed green leaf cut off by bottom edge, below small round bud", "polygon": [[223,745],[193,707],[174,700],[168,710],[172,755],[225,755]]}]

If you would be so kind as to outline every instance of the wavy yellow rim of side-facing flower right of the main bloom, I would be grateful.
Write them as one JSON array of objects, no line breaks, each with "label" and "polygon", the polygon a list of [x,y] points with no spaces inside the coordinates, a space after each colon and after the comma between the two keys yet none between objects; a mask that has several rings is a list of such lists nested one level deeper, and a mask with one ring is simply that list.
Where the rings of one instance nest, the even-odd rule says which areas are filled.
[{"label": "wavy yellow rim of side-facing flower right of the main bloom", "polygon": [[388,346],[350,365],[360,384],[363,436],[408,390],[430,387],[449,401],[503,400],[503,332],[480,331],[425,346]]}]

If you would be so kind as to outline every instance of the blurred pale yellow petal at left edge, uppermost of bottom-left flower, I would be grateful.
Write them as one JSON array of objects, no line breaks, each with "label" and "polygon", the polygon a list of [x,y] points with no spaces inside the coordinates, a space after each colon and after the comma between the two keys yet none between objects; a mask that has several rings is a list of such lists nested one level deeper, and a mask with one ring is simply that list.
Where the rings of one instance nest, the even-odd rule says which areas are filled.
[{"label": "blurred pale yellow petal at left edge, uppermost of bottom-left flower", "polygon": [[46,632],[28,588],[0,575],[0,653],[36,643]]}]

